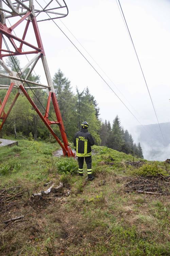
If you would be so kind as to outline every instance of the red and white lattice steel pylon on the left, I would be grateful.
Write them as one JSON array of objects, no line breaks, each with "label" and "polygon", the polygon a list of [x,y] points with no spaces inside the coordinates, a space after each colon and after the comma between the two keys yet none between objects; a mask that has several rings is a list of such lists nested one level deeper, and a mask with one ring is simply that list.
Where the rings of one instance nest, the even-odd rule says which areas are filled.
[{"label": "red and white lattice steel pylon on the left", "polygon": [[[11,0],[0,0],[0,65],[5,70],[6,74],[0,73],[0,77],[7,77],[11,79],[10,85],[0,85],[0,89],[6,89],[7,93],[1,101],[0,99],[0,119],[2,119],[2,124],[0,125],[0,130],[2,129],[8,115],[10,114],[17,98],[21,93],[23,93],[26,98],[31,103],[32,107],[35,109],[39,117],[43,120],[51,134],[54,136],[56,141],[60,144],[63,150],[63,154],[65,156],[74,156],[73,152],[71,151],[68,140],[62,120],[62,116],[60,113],[60,109],[58,106],[58,102],[56,99],[49,67],[47,64],[45,51],[43,47],[43,43],[41,40],[40,32],[38,29],[38,22],[50,20],[50,19],[56,19],[65,17],[68,14],[68,8],[64,0],[61,0],[60,2],[58,0],[51,0],[49,1],[44,7],[43,3],[41,2],[45,1],[36,1],[35,0],[35,6],[33,0],[16,0],[15,2],[11,2]],[[40,6],[40,8],[39,8]],[[59,12],[58,12],[59,11]],[[62,13],[61,13],[62,12]],[[6,19],[10,19],[9,22],[10,27],[7,27],[6,25]],[[14,34],[14,29],[17,28],[20,24],[24,24],[24,26],[21,27],[21,35],[22,37],[17,37]],[[31,25],[32,24],[32,25]],[[32,33],[35,35],[35,41],[36,44],[30,42],[30,40],[26,41],[26,35],[28,32],[28,28],[30,29],[30,26],[32,26]],[[8,39],[8,46],[4,43],[5,39]],[[17,46],[19,44],[19,47]],[[23,46],[27,48],[27,51],[23,51]],[[12,50],[11,50],[12,47]],[[4,57],[7,56],[19,56],[19,55],[27,55],[27,54],[34,54],[35,56],[19,71],[12,71],[8,66],[5,65],[5,62],[3,61]],[[47,79],[47,84],[40,84],[36,82],[29,81],[29,76],[32,73],[36,63],[38,60],[41,59],[43,63],[44,72]],[[27,68],[30,67],[30,70],[26,76],[25,79],[22,77],[22,73],[27,70]],[[29,83],[32,84],[32,86],[26,87],[25,85]],[[33,100],[30,98],[27,89],[47,89],[48,93],[48,100],[47,100],[47,106],[46,106],[46,113],[43,116]],[[5,113],[4,108],[7,103],[7,100],[11,94],[11,91],[13,89],[17,90],[17,94],[8,109],[8,111]],[[49,120],[49,108],[50,108],[50,102],[54,106],[54,111],[56,114],[56,121],[50,121]],[[22,111],[22,110],[21,110]],[[56,136],[53,129],[51,128],[52,124],[57,124],[60,128],[62,141]]]}]

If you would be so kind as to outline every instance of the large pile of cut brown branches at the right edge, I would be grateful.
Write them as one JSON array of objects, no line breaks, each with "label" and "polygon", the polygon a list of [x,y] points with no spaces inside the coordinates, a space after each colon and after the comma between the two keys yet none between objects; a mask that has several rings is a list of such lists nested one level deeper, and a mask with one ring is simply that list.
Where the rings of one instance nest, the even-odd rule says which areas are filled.
[{"label": "large pile of cut brown branches at the right edge", "polygon": [[169,195],[170,176],[158,174],[128,177],[128,182],[124,186],[126,187],[126,192],[136,191],[142,194]]}]

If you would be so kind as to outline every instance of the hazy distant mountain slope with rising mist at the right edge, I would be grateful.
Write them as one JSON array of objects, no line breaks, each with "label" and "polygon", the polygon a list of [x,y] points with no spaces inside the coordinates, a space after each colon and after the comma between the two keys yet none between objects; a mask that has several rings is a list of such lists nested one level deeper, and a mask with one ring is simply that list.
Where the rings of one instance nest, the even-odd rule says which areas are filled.
[{"label": "hazy distant mountain slope with rising mist at the right edge", "polygon": [[[148,160],[165,160],[170,158],[170,122],[161,123],[162,134],[158,124],[137,126],[138,140],[141,142],[144,158]],[[147,132],[148,131],[148,132]]]}]

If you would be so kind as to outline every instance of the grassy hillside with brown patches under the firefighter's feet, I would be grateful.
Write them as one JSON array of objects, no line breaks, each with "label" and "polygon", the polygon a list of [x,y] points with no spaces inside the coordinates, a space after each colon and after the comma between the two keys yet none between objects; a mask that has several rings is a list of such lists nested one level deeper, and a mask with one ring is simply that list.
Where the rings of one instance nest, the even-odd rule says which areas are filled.
[{"label": "grassy hillside with brown patches under the firefighter's feet", "polygon": [[[139,159],[94,146],[90,182],[86,168],[83,177],[74,173],[77,161],[52,155],[58,148],[26,140],[0,148],[0,255],[169,255],[168,195],[127,193],[124,186],[136,174],[169,175],[168,164],[146,161],[135,168],[125,161]],[[30,199],[49,188],[47,182],[63,182],[64,188]]]}]

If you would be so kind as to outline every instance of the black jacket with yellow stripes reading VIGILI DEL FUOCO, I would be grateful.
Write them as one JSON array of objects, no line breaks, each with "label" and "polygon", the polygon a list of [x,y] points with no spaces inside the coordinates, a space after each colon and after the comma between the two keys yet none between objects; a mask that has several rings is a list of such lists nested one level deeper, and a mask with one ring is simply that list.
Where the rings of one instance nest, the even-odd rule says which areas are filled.
[{"label": "black jacket with yellow stripes reading VIGILI DEL FUOCO", "polygon": [[87,129],[78,131],[75,134],[73,142],[78,157],[91,156],[91,146],[93,146],[95,142]]}]

